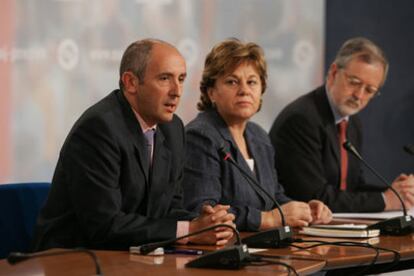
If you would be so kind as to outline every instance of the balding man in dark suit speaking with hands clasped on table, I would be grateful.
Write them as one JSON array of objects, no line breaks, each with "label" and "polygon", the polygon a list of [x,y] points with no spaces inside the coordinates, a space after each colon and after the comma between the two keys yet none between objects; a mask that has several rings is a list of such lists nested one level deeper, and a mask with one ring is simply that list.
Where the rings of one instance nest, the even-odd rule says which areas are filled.
[{"label": "balding man in dark suit speaking with hands clasped on table", "polygon": [[[153,39],[132,43],[120,66],[120,90],[90,107],[60,152],[34,249],[127,249],[217,223],[228,206],[182,207],[184,129],[174,115],[186,77],[184,58]],[[225,244],[227,229],[190,238]]]}]

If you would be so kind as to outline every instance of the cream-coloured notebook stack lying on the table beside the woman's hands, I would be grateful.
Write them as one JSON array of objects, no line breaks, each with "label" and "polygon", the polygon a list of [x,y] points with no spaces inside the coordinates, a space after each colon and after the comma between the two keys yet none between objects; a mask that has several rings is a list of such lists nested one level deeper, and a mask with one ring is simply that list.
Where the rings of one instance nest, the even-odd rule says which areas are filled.
[{"label": "cream-coloured notebook stack lying on the table beside the woman's hands", "polygon": [[299,233],[332,238],[371,238],[379,236],[380,230],[368,229],[366,224],[335,224],[307,226],[303,227]]}]

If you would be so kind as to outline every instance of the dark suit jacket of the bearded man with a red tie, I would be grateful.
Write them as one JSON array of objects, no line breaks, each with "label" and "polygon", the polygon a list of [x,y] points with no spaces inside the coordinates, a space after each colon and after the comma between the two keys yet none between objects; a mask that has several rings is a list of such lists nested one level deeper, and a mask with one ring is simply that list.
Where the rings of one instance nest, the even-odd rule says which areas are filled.
[{"label": "dark suit jacket of the bearded man with a red tie", "polygon": [[[347,190],[339,189],[339,142],[324,86],[284,108],[273,123],[270,139],[276,151],[279,180],[290,197],[319,199],[334,212],[384,209],[381,192],[372,191],[365,183],[361,163],[350,154]],[[350,117],[347,139],[360,150],[361,124],[356,115]]]}]

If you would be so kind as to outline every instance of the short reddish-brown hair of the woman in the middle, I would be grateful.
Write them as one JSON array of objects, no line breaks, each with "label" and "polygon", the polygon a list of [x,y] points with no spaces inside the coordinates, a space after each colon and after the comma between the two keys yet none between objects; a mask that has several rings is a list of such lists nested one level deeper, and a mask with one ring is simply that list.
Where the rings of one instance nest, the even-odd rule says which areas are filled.
[{"label": "short reddish-brown hair of the woman in the middle", "polygon": [[267,65],[263,49],[253,43],[243,43],[236,38],[224,40],[216,44],[207,54],[204,62],[204,70],[200,82],[200,101],[198,110],[213,108],[208,97],[208,89],[214,87],[217,78],[234,70],[243,62],[251,62],[257,69],[262,84],[262,94],[266,90]]}]

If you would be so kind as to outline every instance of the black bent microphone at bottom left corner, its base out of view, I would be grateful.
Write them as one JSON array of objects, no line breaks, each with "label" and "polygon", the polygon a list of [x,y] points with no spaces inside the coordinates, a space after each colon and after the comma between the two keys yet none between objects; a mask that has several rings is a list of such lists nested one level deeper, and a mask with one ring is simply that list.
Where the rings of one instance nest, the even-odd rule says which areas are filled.
[{"label": "black bent microphone at bottom left corner, its base out of view", "polygon": [[11,265],[15,265],[22,261],[31,259],[31,258],[39,258],[39,257],[48,257],[48,256],[56,256],[56,255],[64,255],[64,254],[72,254],[72,253],[86,253],[93,259],[95,264],[95,271],[96,275],[103,275],[101,271],[101,266],[99,264],[99,259],[95,255],[95,253],[91,250],[84,249],[84,248],[74,248],[74,249],[64,249],[64,250],[55,250],[55,251],[46,251],[46,252],[36,252],[36,253],[21,253],[21,252],[11,252],[7,257],[7,262]]}]

